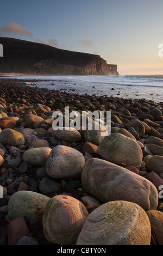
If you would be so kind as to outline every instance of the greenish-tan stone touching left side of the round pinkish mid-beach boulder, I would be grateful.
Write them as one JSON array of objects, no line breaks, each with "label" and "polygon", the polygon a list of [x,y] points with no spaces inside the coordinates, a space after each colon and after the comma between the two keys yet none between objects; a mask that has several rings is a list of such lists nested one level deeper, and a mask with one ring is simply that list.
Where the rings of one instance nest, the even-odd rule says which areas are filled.
[{"label": "greenish-tan stone touching left side of the round pinkish mid-beach boulder", "polygon": [[45,165],[51,150],[52,149],[48,147],[28,149],[23,154],[23,161],[40,166]]}]

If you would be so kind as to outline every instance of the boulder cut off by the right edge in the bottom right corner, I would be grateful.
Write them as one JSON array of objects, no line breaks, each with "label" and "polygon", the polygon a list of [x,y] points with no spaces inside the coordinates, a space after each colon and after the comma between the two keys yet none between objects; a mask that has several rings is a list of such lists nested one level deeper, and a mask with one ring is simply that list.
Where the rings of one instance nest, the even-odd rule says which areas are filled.
[{"label": "boulder cut off by the right edge in the bottom right corner", "polygon": [[151,231],[155,242],[163,245],[163,212],[150,210],[146,212],[151,223]]}]

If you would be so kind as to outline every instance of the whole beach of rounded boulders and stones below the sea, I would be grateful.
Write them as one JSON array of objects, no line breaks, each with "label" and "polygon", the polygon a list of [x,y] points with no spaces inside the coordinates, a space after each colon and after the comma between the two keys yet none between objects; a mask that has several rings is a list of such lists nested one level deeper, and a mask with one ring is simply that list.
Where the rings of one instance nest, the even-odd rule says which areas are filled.
[{"label": "whole beach of rounded boulders and stones below the sea", "polygon": [[[24,82],[0,78],[0,245],[163,245],[163,102]],[[65,107],[110,136],[54,131]]]}]

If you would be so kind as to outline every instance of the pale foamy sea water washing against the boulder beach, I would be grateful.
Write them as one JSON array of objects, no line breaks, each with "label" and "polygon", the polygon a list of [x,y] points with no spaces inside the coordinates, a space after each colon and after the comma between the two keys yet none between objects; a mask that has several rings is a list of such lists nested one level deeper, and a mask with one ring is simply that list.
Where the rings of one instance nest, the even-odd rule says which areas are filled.
[{"label": "pale foamy sea water washing against the boulder beach", "polygon": [[61,90],[75,94],[114,96],[163,102],[163,75],[152,76],[21,76],[0,78],[26,80],[31,87]]}]

